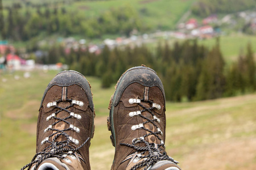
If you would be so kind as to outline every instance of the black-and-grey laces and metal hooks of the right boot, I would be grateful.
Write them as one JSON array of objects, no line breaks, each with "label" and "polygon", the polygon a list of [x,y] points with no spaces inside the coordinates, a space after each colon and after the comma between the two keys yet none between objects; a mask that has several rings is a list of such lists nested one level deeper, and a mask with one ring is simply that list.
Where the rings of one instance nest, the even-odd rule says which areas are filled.
[{"label": "black-and-grey laces and metal hooks of the right boot", "polygon": [[[143,104],[141,104],[141,101],[146,102],[146,103],[150,103],[150,108],[145,107]],[[148,131],[149,133],[147,133],[146,135],[144,135],[143,137],[139,137],[139,138],[135,138],[133,139],[133,142],[131,144],[129,143],[120,143],[123,146],[127,146],[127,147],[131,147],[134,148],[135,150],[137,150],[137,152],[135,154],[137,154],[139,152],[139,154],[137,154],[138,159],[144,159],[142,162],[139,162],[137,164],[135,164],[131,170],[135,170],[141,167],[144,167],[143,170],[149,169],[151,167],[151,165],[153,165],[156,162],[159,162],[160,160],[170,160],[171,162],[174,162],[175,164],[178,164],[179,162],[177,162],[176,160],[174,160],[173,158],[171,158],[170,156],[167,155],[167,153],[164,151],[165,145],[164,145],[164,141],[159,137],[159,135],[162,134],[162,131],[160,130],[160,128],[158,128],[158,125],[155,124],[155,122],[160,122],[159,118],[155,116],[155,112],[154,109],[159,109],[160,110],[160,105],[154,103],[151,100],[147,100],[145,101],[144,99],[140,100],[140,99],[130,99],[129,103],[137,103],[139,105],[139,107],[143,108],[142,111],[137,111],[137,112],[130,112],[129,116],[140,116],[142,117],[144,121],[142,124],[139,125],[134,125],[131,127],[132,130],[136,130],[136,129],[143,129]],[[143,116],[141,113],[143,112],[148,112],[153,116],[153,120],[151,120],[150,118]],[[155,128],[158,130],[156,132],[151,131],[150,129],[144,128],[144,124],[147,124],[148,122],[150,122],[152,125],[155,126]],[[149,135],[154,135],[156,138],[158,138],[160,140],[159,144],[156,143],[149,143],[148,141],[146,141],[144,138],[149,136]],[[146,146],[136,146],[136,143],[144,143]],[[146,152],[148,154],[146,154]],[[125,160],[124,160],[125,161]],[[123,161],[123,162],[124,162]]]}]

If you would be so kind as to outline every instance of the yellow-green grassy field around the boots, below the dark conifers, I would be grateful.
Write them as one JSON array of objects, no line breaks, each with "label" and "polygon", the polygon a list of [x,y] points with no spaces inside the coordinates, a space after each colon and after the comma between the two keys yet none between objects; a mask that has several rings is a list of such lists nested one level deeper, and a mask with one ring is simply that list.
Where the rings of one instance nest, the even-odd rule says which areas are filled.
[{"label": "yellow-green grassy field around the boots, below the dark conifers", "polygon": [[[0,167],[20,169],[35,154],[40,100],[57,71],[0,74]],[[16,79],[14,78],[16,75]],[[19,76],[19,79],[17,79]],[[92,169],[110,169],[114,147],[106,128],[114,92],[92,85],[96,131],[90,147]],[[256,169],[256,94],[194,103],[167,102],[166,149],[183,169]]]}]

